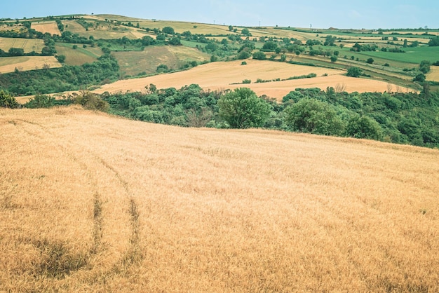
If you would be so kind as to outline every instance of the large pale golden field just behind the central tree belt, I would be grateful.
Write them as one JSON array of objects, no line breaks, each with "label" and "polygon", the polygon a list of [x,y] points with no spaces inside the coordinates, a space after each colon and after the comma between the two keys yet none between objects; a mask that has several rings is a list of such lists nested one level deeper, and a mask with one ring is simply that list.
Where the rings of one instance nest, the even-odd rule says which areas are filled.
[{"label": "large pale golden field just behind the central tree belt", "polygon": [[[175,72],[173,74],[160,74],[142,79],[130,79],[116,81],[102,86],[95,90],[95,93],[104,92],[125,92],[141,91],[144,86],[153,83],[158,88],[181,88],[191,83],[196,83],[205,90],[225,90],[229,88],[246,87],[255,90],[258,95],[268,95],[281,100],[286,94],[295,88],[321,88],[325,90],[328,86],[335,87],[337,84],[344,84],[348,92],[384,92],[388,88],[388,83],[374,81],[370,79],[353,79],[343,76],[344,71],[336,69],[326,69],[321,67],[309,67],[304,65],[288,64],[284,62],[270,62],[246,60],[247,65],[241,65],[241,61],[233,62],[213,62],[200,65],[188,71]],[[273,80],[288,79],[292,76],[302,76],[306,74],[317,74],[312,79],[296,79],[290,81],[273,81],[255,83],[257,79]],[[327,74],[327,76],[323,76]],[[242,83],[244,79],[250,79],[250,84]],[[398,88],[393,86],[394,89]],[[406,88],[400,88],[406,91]]]}]

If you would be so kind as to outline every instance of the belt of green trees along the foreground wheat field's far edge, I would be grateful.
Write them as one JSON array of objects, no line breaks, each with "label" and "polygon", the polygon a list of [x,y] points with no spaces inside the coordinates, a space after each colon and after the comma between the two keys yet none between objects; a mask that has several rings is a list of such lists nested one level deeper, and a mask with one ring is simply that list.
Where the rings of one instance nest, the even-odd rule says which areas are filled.
[{"label": "belt of green trees along the foreground wheat field's far edge", "polygon": [[[20,107],[0,92],[1,107]],[[127,118],[182,127],[266,128],[439,147],[439,93],[346,93],[339,88],[297,88],[283,102],[249,88],[205,91],[198,85],[142,92],[83,92],[74,99],[36,95],[23,107],[81,104]]]}]

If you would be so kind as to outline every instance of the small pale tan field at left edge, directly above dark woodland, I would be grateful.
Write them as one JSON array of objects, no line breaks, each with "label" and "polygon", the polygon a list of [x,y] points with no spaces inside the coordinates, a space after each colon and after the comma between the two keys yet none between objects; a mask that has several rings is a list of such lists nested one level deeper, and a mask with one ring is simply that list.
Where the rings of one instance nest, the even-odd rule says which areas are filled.
[{"label": "small pale tan field at left edge, directly above dark woodland", "polygon": [[22,56],[0,57],[0,73],[42,69],[43,67],[61,67],[60,62],[53,56]]}]

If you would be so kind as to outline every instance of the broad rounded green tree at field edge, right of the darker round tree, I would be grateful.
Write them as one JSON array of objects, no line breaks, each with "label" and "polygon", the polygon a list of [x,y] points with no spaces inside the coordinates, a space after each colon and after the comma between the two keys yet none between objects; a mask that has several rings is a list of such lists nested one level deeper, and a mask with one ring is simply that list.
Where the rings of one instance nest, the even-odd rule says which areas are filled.
[{"label": "broad rounded green tree at field edge, right of the darker round tree", "polygon": [[302,99],[285,109],[285,122],[295,131],[319,135],[342,135],[344,123],[330,104]]}]

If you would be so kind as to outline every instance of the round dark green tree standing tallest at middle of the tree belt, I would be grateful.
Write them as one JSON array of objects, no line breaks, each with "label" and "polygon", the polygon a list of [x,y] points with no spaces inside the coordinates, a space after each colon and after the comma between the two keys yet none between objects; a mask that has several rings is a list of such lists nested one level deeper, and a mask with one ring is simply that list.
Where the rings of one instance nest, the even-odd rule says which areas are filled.
[{"label": "round dark green tree standing tallest at middle of the tree belt", "polygon": [[270,105],[250,88],[236,88],[218,100],[219,116],[231,128],[261,127],[271,113]]}]

